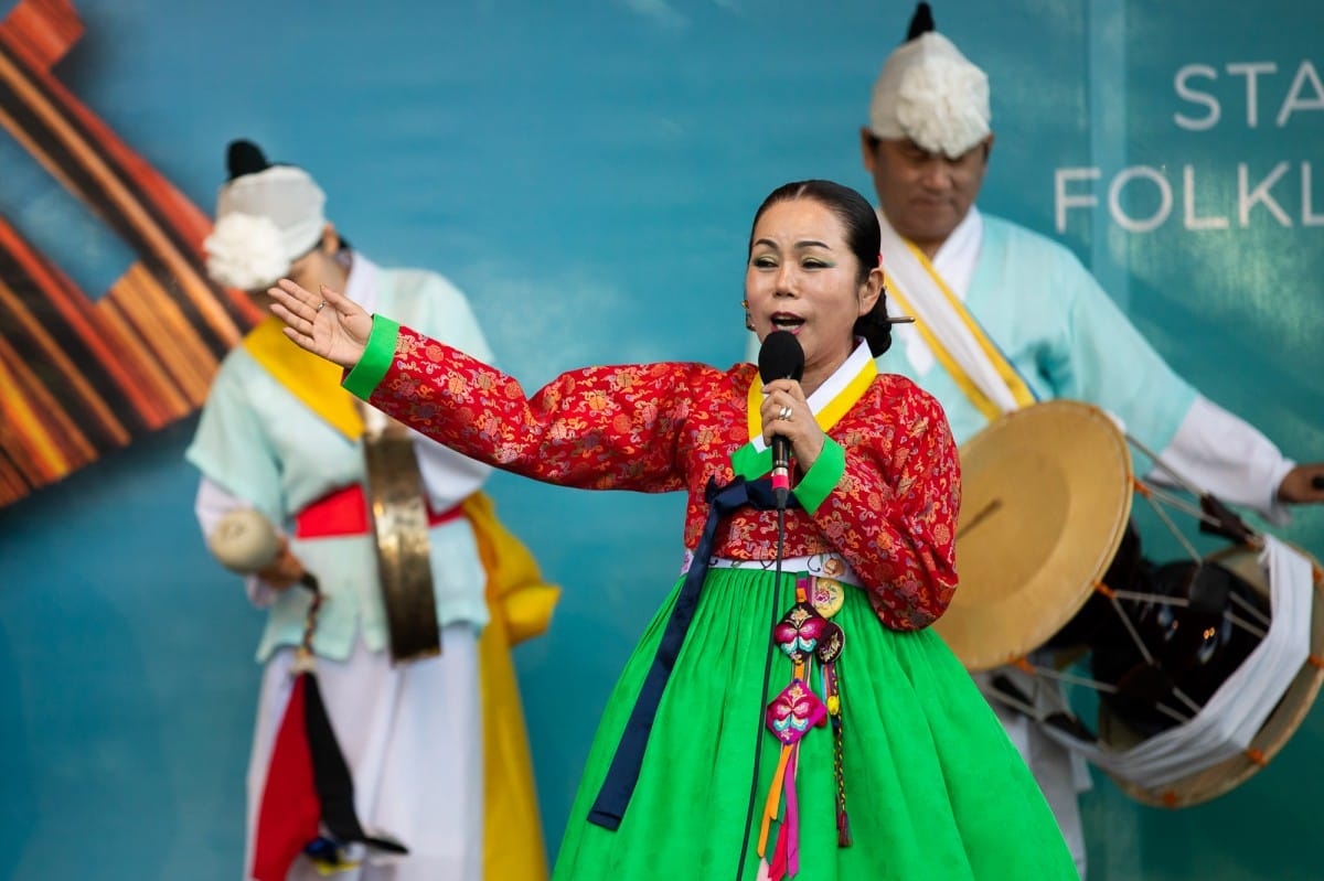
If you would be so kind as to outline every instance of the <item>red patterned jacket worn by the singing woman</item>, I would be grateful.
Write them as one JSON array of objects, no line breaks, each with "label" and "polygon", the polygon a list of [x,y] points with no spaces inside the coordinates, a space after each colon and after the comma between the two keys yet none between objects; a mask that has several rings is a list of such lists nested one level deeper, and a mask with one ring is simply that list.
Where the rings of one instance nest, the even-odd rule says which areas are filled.
[{"label": "red patterned jacket worn by the singing woman", "polygon": [[[391,324],[381,329],[395,333]],[[363,372],[379,336],[354,373]],[[377,344],[383,356],[387,343]],[[368,369],[373,378],[384,372],[372,405],[467,456],[538,480],[685,489],[690,549],[707,516],[708,479],[730,483],[731,454],[749,441],[747,394],[759,381],[752,364],[584,368],[527,397],[512,377],[409,328],[393,343],[389,366],[383,357]],[[355,389],[354,374],[346,385]],[[845,466],[813,511],[786,512],[786,557],[837,552],[886,626],[931,624],[956,587],[960,468],[941,407],[906,377],[880,374],[828,434]],[[747,508],[719,526],[714,553],[773,560],[776,540],[776,515]]]}]

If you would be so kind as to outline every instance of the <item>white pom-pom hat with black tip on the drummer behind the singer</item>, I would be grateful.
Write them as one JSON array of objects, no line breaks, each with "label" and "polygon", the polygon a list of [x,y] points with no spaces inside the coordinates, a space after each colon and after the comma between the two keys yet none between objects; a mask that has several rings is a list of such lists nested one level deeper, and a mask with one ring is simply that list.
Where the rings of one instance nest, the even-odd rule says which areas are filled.
[{"label": "white pom-pom hat with black tip on the drummer behind the singer", "polygon": [[[916,21],[932,28],[928,4]],[[923,26],[923,25],[922,25]],[[956,159],[988,138],[992,122],[988,75],[951,40],[928,29],[915,32],[883,63],[874,83],[869,128],[879,138],[910,138],[935,153]]]}]

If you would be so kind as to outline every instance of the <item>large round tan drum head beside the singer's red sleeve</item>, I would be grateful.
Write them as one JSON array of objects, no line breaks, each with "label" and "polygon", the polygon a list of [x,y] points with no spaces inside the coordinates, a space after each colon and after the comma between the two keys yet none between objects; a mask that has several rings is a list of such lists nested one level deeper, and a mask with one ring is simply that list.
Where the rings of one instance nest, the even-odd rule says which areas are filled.
[{"label": "large round tan drum head beside the singer's red sleeve", "polygon": [[1080,610],[1131,516],[1131,452],[1103,410],[1047,401],[960,450],[960,583],[933,624],[967,669],[1043,646]]}]

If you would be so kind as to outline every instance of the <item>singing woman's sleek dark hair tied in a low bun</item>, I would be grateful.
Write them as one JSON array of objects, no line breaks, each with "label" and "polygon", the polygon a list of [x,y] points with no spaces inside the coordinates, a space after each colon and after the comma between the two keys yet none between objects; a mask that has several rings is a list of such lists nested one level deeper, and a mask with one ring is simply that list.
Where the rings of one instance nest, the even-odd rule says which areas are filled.
[{"label": "singing woman's sleek dark hair tied in a low bun", "polygon": [[[797,198],[812,198],[830,210],[841,220],[846,229],[846,245],[855,255],[858,269],[855,270],[855,283],[863,284],[870,270],[878,266],[879,241],[882,233],[878,229],[878,214],[869,200],[853,190],[830,180],[798,180],[782,184],[768,193],[763,205],[755,212],[753,224],[749,228],[749,249],[753,251],[753,230],[759,226],[759,218],[764,212],[777,202],[792,202]],[[878,357],[892,345],[892,324],[887,320],[887,290],[878,294],[874,308],[861,315],[855,320],[855,336],[862,336],[869,343],[869,351]]]}]

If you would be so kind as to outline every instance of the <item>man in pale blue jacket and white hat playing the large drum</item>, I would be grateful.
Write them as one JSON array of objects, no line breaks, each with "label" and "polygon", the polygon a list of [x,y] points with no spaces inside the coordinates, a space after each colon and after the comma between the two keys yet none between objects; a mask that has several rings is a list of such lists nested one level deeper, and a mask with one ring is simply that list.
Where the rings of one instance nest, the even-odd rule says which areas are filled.
[{"label": "man in pale blue jacket and white hat playing the large drum", "polygon": [[[1131,437],[1223,501],[1272,521],[1283,520],[1284,503],[1324,501],[1324,489],[1312,487],[1324,464],[1284,459],[1178,377],[1067,249],[974,206],[993,149],[989,123],[985,73],[933,30],[928,4],[919,4],[861,130],[888,295],[919,319],[896,327],[886,369],[941,401],[957,442],[1034,399],[1074,398],[1120,417]],[[1151,464],[1137,462],[1136,472]],[[1088,774],[1027,717],[993,708],[1083,877],[1076,792],[1088,787]]]}]

